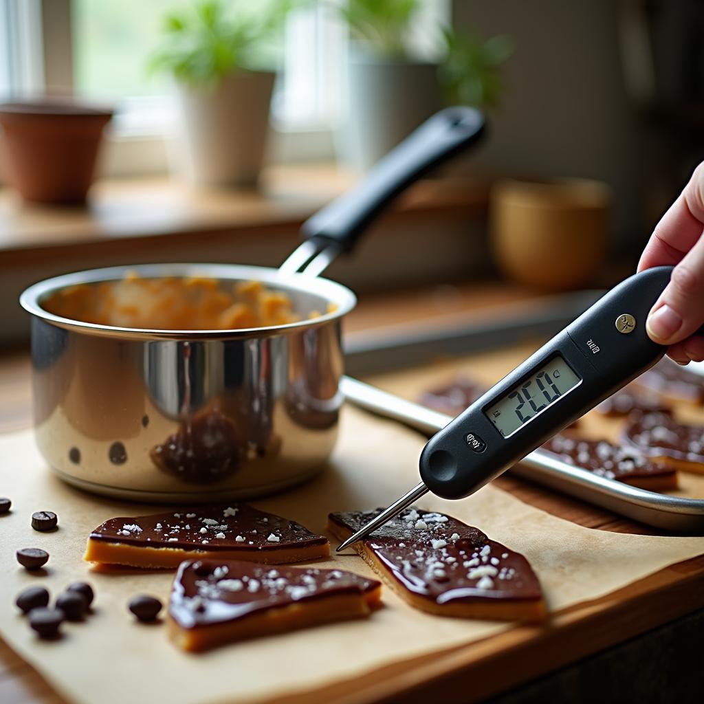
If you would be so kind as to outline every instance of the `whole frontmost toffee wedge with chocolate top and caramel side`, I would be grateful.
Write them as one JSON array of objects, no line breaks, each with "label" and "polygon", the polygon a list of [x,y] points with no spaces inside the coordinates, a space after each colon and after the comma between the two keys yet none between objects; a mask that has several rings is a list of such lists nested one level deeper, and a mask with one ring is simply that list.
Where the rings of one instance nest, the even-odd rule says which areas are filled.
[{"label": "whole frontmost toffee wedge with chocolate top and caramel side", "polygon": [[344,570],[188,560],[172,586],[168,631],[184,650],[207,650],[367,616],[381,586]]}]

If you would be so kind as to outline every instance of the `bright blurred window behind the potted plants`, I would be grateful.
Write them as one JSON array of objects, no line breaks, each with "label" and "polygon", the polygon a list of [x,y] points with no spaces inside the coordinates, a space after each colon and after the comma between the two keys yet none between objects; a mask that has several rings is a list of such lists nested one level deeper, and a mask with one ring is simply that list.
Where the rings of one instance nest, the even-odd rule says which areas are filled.
[{"label": "bright blurred window behind the potted plants", "polygon": [[[175,134],[178,113],[170,79],[149,72],[149,55],[164,14],[188,2],[0,0],[0,94],[46,90],[111,103],[105,170],[165,172],[165,139]],[[425,0],[419,28],[446,17],[447,4]],[[427,32],[418,34],[422,45]],[[289,17],[272,101],[275,161],[334,158],[333,133],[346,108],[346,52],[347,29],[327,3]]]}]

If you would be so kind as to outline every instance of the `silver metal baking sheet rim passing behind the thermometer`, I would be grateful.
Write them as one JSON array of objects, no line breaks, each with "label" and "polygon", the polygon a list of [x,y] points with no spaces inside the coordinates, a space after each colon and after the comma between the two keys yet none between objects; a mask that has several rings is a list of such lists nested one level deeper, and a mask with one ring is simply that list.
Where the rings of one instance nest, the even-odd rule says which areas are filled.
[{"label": "silver metal baking sheet rim passing behind the thermometer", "polygon": [[[498,320],[493,323],[467,325],[463,329],[427,333],[404,334],[396,337],[386,334],[375,340],[367,337],[348,348],[348,371],[353,374],[371,374],[429,363],[439,355],[462,356],[512,344],[527,334],[548,336],[558,332],[600,295],[596,291],[558,296],[532,315],[522,313],[520,319]],[[438,332],[437,330],[435,332]],[[375,386],[344,377],[341,391],[348,401],[372,413],[393,418],[415,427],[425,434],[433,434],[452,420],[420,404],[388,394]],[[648,525],[688,534],[704,533],[704,499],[680,498],[639,489],[624,482],[598,477],[592,472],[572,467],[550,455],[536,450],[513,472],[551,489],[570,494],[583,501],[612,510],[620,515]]]}]

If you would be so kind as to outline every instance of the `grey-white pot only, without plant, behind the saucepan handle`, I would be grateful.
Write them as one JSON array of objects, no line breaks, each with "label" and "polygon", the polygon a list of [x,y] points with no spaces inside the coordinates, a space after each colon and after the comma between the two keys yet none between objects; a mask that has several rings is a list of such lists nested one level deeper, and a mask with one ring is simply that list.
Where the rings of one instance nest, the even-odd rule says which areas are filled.
[{"label": "grey-white pot only, without plant, behind the saucepan handle", "polygon": [[354,49],[348,100],[339,156],[352,168],[367,170],[442,107],[437,66],[384,61]]}]

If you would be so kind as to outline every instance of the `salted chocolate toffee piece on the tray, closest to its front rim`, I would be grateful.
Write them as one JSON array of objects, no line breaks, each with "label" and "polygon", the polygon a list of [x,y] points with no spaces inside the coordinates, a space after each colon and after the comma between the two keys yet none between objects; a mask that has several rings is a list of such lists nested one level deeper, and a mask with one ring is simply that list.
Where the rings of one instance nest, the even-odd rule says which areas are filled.
[{"label": "salted chocolate toffee piece on the tray, closest to its front rim", "polygon": [[677,470],[674,467],[657,464],[639,452],[605,440],[580,440],[558,434],[543,444],[541,451],[599,477],[615,479],[641,489],[677,489]]}]

